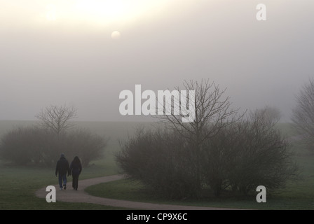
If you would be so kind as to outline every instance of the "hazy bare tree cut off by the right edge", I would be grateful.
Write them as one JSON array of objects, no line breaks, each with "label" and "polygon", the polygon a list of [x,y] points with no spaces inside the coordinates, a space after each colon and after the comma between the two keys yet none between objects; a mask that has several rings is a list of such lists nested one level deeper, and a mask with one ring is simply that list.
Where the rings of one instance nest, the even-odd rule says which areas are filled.
[{"label": "hazy bare tree cut off by the right edge", "polygon": [[303,136],[306,146],[314,150],[314,79],[303,85],[296,97],[292,122],[296,131]]}]

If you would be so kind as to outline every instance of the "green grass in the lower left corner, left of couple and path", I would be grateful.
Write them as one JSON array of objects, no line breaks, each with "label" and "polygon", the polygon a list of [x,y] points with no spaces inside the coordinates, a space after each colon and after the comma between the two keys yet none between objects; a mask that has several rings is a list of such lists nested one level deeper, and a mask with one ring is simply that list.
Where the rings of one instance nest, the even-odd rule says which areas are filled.
[{"label": "green grass in the lower left corner, left of couple and path", "polygon": [[[90,178],[95,172],[93,169],[86,169],[85,178]],[[30,168],[30,167],[1,167],[0,174],[0,210],[89,210],[89,209],[117,209],[97,204],[56,202],[47,203],[46,199],[38,198],[36,190],[45,186],[57,183],[53,169]],[[71,181],[71,177],[69,177]]]}]

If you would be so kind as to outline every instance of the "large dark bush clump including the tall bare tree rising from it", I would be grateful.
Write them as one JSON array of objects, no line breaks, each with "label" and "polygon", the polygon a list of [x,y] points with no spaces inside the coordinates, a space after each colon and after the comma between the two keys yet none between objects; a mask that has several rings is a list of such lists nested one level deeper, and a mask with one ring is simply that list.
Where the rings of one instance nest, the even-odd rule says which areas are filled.
[{"label": "large dark bush clump including the tall bare tree rising from it", "polygon": [[247,195],[295,179],[298,168],[287,141],[275,129],[279,113],[231,109],[218,85],[186,82],[196,90],[194,123],[168,115],[163,130],[139,129],[122,144],[116,161],[130,178],[164,197],[202,197],[203,193]]}]

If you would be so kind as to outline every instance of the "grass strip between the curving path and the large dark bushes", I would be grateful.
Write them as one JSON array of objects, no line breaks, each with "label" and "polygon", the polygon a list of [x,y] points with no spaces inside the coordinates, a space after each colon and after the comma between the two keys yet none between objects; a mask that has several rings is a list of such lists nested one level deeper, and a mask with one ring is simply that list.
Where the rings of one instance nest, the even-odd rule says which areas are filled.
[{"label": "grass strip between the curving path and the large dark bushes", "polygon": [[[305,183],[294,184],[290,186],[290,190],[286,190],[280,194],[267,195],[266,203],[257,203],[255,195],[247,197],[207,197],[201,200],[166,200],[158,197],[158,195],[153,195],[153,193],[147,191],[140,183],[125,179],[90,186],[86,191],[90,195],[98,197],[158,204],[235,209],[314,209],[313,190],[310,194],[303,192],[304,188],[302,184]],[[308,183],[306,185],[309,187]],[[306,187],[306,190],[308,190],[308,187]]]}]

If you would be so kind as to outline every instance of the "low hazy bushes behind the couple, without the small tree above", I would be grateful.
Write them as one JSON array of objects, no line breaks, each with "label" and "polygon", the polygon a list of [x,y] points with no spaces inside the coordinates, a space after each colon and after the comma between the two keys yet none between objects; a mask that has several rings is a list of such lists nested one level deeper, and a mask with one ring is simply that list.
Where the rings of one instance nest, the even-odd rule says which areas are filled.
[{"label": "low hazy bushes behind the couple, without the small tree above", "polygon": [[41,127],[18,127],[1,139],[1,158],[18,165],[55,165],[60,153],[78,155],[87,166],[102,155],[106,141],[86,130],[56,134]]}]

